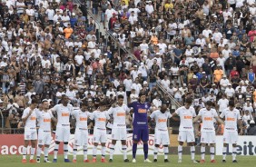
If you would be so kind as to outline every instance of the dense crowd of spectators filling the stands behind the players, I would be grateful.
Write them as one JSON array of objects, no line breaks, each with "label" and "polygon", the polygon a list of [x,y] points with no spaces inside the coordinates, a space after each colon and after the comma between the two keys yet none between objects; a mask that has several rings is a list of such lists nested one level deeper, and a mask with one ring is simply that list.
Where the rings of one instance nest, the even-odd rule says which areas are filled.
[{"label": "dense crowd of spectators filling the stands behind the players", "polygon": [[[245,134],[256,135],[255,0],[76,3],[0,0],[5,128],[23,126],[20,117],[32,99],[49,99],[54,106],[62,94],[74,107],[88,103],[91,112],[101,101],[111,106],[119,94],[125,103],[137,101],[139,93],[148,94],[153,110],[162,103],[172,109],[159,83],[178,103],[192,96],[197,112],[212,101],[222,113],[234,100]],[[91,9],[137,63],[96,35],[94,19],[87,15]],[[132,120],[127,118],[130,128]]]}]

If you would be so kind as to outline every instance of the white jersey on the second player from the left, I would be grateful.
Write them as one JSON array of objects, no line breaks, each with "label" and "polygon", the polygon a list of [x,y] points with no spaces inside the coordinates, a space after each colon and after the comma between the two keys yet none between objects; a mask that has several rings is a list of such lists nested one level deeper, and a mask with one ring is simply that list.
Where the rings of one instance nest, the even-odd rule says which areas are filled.
[{"label": "white jersey on the second player from the left", "polygon": [[52,118],[54,117],[53,113],[51,111],[39,111],[36,110],[36,117],[38,119],[38,123],[39,123],[39,129],[43,130],[43,131],[51,131],[52,129]]}]

